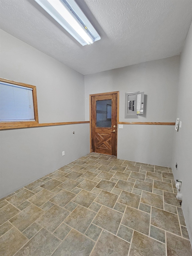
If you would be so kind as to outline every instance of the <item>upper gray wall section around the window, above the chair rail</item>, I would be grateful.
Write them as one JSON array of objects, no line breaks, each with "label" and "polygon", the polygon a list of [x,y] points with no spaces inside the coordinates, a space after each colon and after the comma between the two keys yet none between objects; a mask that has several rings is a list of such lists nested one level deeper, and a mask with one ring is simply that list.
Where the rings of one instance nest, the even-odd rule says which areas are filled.
[{"label": "upper gray wall section around the window, above the chair rail", "polygon": [[84,76],[3,30],[0,33],[0,77],[37,87],[39,123],[84,121]]}]

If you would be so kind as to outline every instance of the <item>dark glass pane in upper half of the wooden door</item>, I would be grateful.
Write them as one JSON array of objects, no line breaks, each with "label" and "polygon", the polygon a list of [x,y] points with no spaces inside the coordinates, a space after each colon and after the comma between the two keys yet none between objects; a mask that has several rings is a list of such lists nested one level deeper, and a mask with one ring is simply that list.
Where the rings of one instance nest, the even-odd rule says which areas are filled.
[{"label": "dark glass pane in upper half of the wooden door", "polygon": [[111,100],[96,101],[96,126],[111,127]]}]

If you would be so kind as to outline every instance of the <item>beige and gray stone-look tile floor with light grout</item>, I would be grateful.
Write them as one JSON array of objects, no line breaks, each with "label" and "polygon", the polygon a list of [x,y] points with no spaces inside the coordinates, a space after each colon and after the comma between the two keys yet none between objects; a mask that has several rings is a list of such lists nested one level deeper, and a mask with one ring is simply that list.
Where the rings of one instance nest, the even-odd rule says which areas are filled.
[{"label": "beige and gray stone-look tile floor with light grout", "polygon": [[192,255],[171,168],[90,153],[0,200],[1,255]]}]

